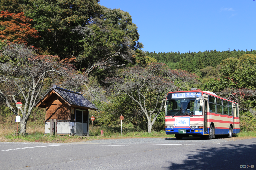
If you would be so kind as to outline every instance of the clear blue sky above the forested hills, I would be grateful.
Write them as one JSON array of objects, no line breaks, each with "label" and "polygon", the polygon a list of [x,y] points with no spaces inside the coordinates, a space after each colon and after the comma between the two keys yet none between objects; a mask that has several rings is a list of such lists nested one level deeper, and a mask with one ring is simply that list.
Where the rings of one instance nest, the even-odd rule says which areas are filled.
[{"label": "clear blue sky above the forested hills", "polygon": [[129,12],[145,51],[256,50],[256,1],[100,0]]}]

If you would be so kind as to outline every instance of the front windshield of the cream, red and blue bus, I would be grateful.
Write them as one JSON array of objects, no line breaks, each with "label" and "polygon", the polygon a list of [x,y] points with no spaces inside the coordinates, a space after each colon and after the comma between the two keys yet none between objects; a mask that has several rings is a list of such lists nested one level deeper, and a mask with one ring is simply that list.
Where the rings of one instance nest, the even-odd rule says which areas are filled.
[{"label": "front windshield of the cream, red and blue bus", "polygon": [[[178,113],[177,113],[178,112]],[[177,114],[176,114],[177,113]],[[203,115],[200,101],[196,99],[170,99],[166,101],[165,115]]]}]

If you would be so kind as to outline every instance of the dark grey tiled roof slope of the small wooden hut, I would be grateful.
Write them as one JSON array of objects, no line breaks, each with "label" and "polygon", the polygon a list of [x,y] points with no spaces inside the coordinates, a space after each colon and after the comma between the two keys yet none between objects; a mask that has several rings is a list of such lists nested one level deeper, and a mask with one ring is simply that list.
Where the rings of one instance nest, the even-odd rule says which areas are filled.
[{"label": "dark grey tiled roof slope of the small wooden hut", "polygon": [[67,100],[67,102],[71,105],[98,109],[91,102],[85,99],[81,93],[73,92],[57,86],[53,86],[52,89],[54,89],[54,91],[56,91],[61,97]]}]

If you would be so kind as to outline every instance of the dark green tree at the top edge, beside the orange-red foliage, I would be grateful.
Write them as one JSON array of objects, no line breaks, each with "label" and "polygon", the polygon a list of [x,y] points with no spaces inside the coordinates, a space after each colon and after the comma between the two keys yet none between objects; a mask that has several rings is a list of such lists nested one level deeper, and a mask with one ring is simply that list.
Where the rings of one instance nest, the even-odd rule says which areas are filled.
[{"label": "dark green tree at the top edge, beside the orange-red foliage", "polygon": [[[33,19],[33,27],[41,36],[36,45],[49,48],[61,57],[79,54],[79,37],[70,33],[79,25],[87,25],[100,15],[99,0],[28,0],[25,16]],[[79,39],[78,39],[79,38]],[[75,54],[74,54],[75,53]]]}]

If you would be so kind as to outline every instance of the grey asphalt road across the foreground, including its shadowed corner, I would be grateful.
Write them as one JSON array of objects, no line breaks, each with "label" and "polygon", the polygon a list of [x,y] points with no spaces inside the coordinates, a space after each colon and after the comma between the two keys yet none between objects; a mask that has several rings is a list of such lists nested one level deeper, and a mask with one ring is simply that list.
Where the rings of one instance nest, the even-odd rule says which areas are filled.
[{"label": "grey asphalt road across the foreground, including its shadowed corner", "polygon": [[[0,169],[255,169],[256,138],[0,142]],[[248,165],[243,168],[242,165]],[[251,165],[254,165],[252,168]],[[241,166],[241,168],[240,168]]]}]

